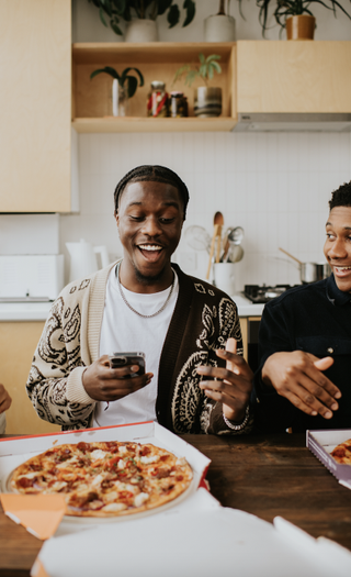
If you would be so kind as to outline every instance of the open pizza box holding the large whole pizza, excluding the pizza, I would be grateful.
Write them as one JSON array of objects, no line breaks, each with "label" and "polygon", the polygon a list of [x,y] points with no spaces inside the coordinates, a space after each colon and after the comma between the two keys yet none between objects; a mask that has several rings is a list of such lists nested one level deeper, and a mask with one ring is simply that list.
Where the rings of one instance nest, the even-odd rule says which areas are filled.
[{"label": "open pizza box holding the large whole pizza, excluding the pizza", "polygon": [[[162,510],[168,507],[178,507],[183,500],[186,501],[200,486],[205,486],[205,476],[211,461],[195,447],[185,443],[185,441],[154,421],[0,440],[0,492],[2,493],[1,501],[4,511],[13,521],[23,524],[30,533],[38,539],[48,539],[55,533],[60,520],[64,518],[65,503],[63,503],[63,509],[59,513],[57,503],[52,502],[54,501],[52,499],[54,496],[23,496],[11,493],[9,492],[9,478],[19,465],[34,455],[43,453],[53,446],[66,443],[78,444],[81,441],[87,443],[97,441],[152,443],[156,446],[171,451],[179,457],[185,457],[193,469],[191,486],[183,495],[176,499],[174,502],[171,501],[162,506],[162,508],[160,508]],[[37,506],[34,501],[37,502]],[[131,517],[137,518],[139,515],[155,514],[158,510],[159,509],[151,509],[150,511],[136,513]],[[54,515],[56,517],[56,523],[47,524],[49,519],[54,519]],[[99,522],[115,523],[124,519],[125,517],[107,518],[100,519]],[[65,517],[64,520],[66,520],[65,524],[68,526],[76,523],[79,528],[83,525],[87,526],[92,522],[89,518]],[[98,522],[98,519],[94,521]]]}]

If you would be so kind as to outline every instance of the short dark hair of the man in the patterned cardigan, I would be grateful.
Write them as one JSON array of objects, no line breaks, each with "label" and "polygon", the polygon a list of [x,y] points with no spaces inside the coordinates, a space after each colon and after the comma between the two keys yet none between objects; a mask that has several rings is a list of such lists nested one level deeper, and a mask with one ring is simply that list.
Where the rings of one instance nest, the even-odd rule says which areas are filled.
[{"label": "short dark hair of the man in the patterned cardigan", "polygon": [[176,173],[173,173],[173,170],[171,170],[170,168],[166,168],[166,166],[158,165],[137,166],[136,168],[129,170],[120,180],[114,191],[114,207],[116,212],[118,210],[118,202],[125,187],[129,182],[141,182],[143,180],[148,182],[166,182],[177,188],[183,201],[183,219],[185,220],[186,207],[189,202],[189,190],[186,188],[186,185]]}]

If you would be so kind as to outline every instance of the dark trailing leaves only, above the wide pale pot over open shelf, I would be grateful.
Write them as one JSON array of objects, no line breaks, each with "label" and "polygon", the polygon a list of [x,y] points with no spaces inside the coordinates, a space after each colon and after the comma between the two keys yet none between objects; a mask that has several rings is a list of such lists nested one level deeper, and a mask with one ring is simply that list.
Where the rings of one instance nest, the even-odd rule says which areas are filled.
[{"label": "dark trailing leaves only, above the wide pale pot over open shelf", "polygon": [[[105,14],[110,19],[112,30],[122,35],[120,29],[120,21],[125,20],[129,22],[133,16],[141,20],[156,20],[167,12],[167,21],[169,27],[176,26],[180,21],[180,9],[173,0],[88,0],[99,8],[100,20],[104,26],[107,26]],[[183,9],[186,12],[183,26],[188,26],[195,15],[195,2],[193,0],[184,0]]]}]

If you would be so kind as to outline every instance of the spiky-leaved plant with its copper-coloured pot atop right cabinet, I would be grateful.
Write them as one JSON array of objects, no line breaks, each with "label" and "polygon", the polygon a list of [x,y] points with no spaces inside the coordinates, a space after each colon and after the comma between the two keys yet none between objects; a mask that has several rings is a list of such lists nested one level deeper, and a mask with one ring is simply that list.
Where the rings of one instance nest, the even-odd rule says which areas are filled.
[{"label": "spiky-leaved plant with its copper-coloured pot atop right cabinet", "polygon": [[281,26],[281,32],[286,29],[287,40],[313,40],[316,27],[316,19],[309,9],[313,2],[331,10],[335,16],[337,15],[336,9],[339,8],[351,19],[351,15],[337,0],[257,0],[262,36],[265,35],[268,29],[269,9],[272,5],[275,22]]}]

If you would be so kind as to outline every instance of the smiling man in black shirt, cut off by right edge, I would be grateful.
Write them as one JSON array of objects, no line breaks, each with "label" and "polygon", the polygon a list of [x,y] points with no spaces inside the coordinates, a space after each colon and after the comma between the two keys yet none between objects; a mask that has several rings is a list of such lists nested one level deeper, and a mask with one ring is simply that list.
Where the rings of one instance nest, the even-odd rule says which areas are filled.
[{"label": "smiling man in black shirt, cut off by right edge", "polygon": [[351,182],[332,193],[326,224],[328,279],[269,302],[260,325],[258,429],[351,425]]}]

